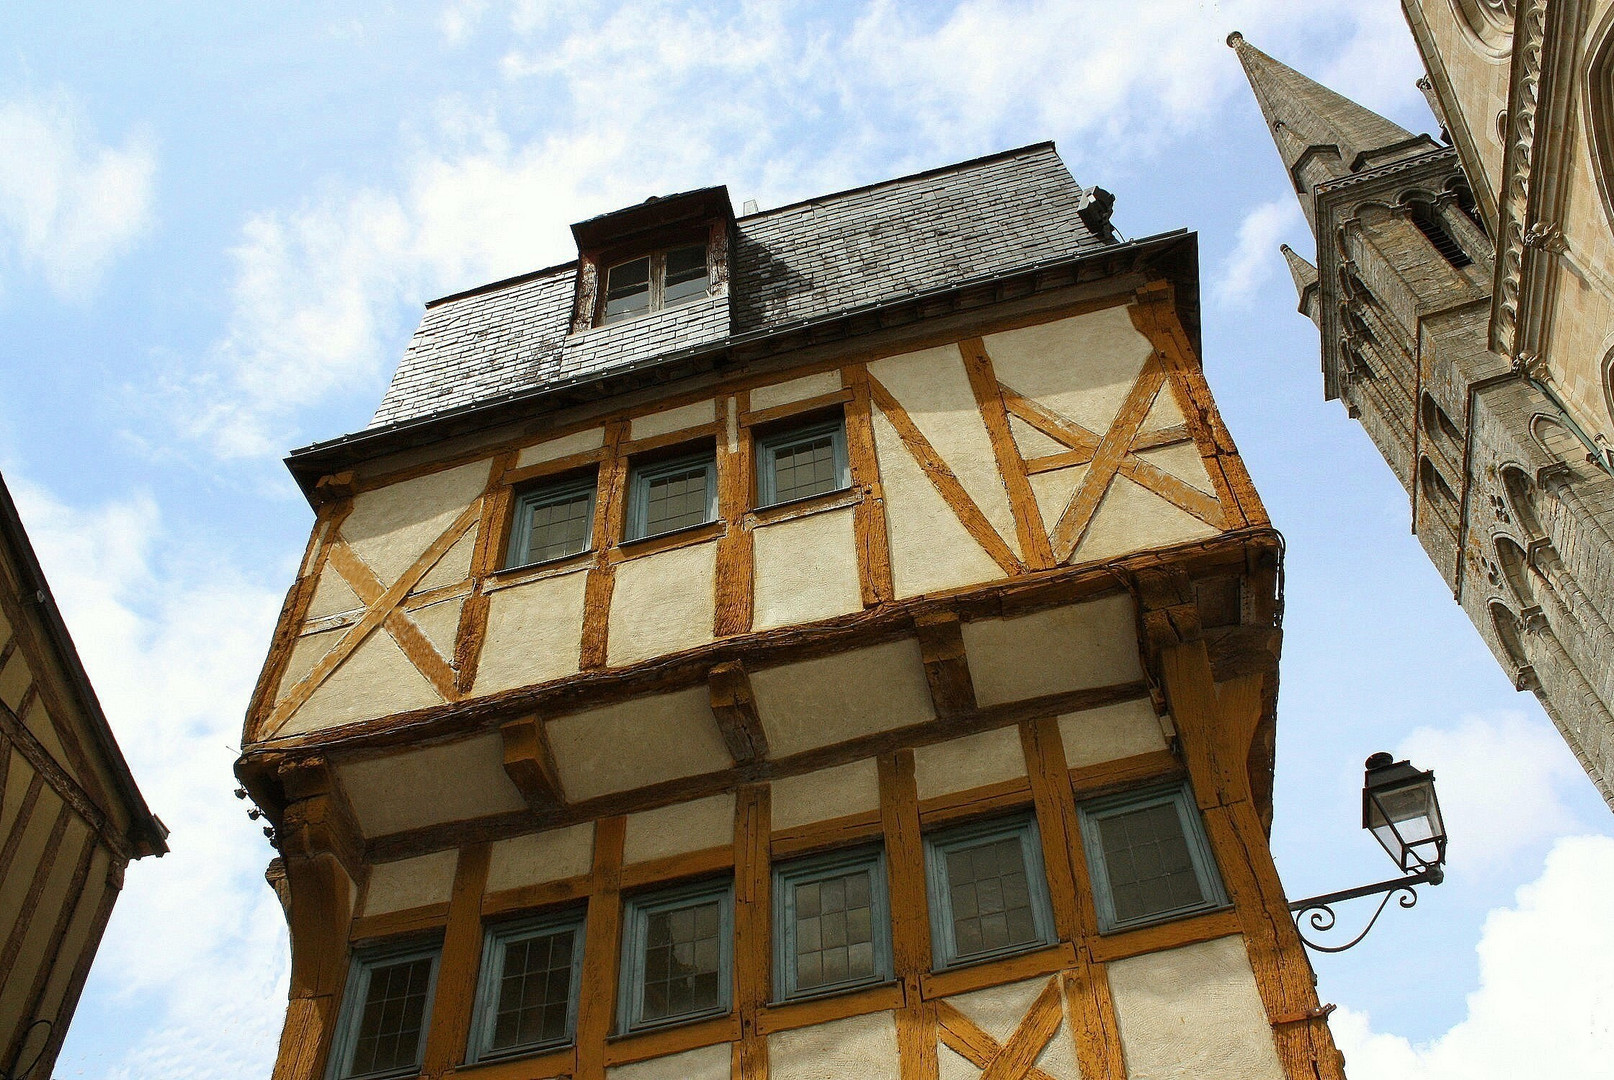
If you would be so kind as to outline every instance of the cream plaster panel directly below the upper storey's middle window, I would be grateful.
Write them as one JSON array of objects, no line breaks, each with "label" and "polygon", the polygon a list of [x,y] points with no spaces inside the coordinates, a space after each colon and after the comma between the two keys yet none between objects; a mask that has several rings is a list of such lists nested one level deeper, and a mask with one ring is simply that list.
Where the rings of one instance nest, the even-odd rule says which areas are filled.
[{"label": "cream plaster panel directly below the upper storey's middle window", "polygon": [[717,541],[617,567],[607,657],[612,667],[712,641]]}]

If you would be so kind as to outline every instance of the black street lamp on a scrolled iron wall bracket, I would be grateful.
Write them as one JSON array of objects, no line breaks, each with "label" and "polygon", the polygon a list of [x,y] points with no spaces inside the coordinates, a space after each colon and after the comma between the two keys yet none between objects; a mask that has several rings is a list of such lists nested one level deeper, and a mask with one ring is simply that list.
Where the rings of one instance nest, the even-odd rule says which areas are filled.
[{"label": "black street lamp on a scrolled iron wall bracket", "polygon": [[[1414,886],[1440,885],[1446,878],[1441,869],[1446,862],[1446,823],[1440,814],[1440,799],[1435,796],[1433,772],[1419,770],[1411,762],[1398,762],[1390,754],[1369,757],[1362,777],[1362,828],[1374,835],[1406,877],[1323,893],[1290,904],[1301,941],[1319,952],[1344,952],[1367,936],[1391,898],[1401,907],[1412,907],[1417,904]],[[1317,933],[1333,930],[1335,904],[1380,894],[1383,899],[1378,901],[1374,917],[1344,944],[1325,944],[1306,936],[1307,927]]]}]

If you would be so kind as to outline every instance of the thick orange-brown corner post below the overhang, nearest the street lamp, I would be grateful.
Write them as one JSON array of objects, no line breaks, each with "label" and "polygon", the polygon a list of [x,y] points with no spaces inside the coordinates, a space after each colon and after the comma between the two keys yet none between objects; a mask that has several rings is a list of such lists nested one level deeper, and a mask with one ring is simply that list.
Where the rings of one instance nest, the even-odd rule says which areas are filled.
[{"label": "thick orange-brown corner post below the overhang, nearest the street lamp", "polygon": [[1160,668],[1188,775],[1244,931],[1283,1072],[1293,1080],[1343,1080],[1343,1057],[1317,1007],[1311,962],[1290,920],[1278,869],[1249,793],[1244,762],[1261,723],[1261,676],[1217,686],[1204,641],[1198,639],[1162,649]]}]

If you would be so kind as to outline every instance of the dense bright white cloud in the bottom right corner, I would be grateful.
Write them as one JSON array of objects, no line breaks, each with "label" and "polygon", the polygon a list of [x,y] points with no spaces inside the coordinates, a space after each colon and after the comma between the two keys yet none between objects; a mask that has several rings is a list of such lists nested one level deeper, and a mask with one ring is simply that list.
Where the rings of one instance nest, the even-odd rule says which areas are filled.
[{"label": "dense bright white cloud in the bottom right corner", "polygon": [[[1499,759],[1498,759],[1499,760]],[[1495,762],[1493,762],[1495,764]],[[1362,1080],[1601,1080],[1614,1059],[1614,838],[1559,839],[1514,907],[1493,910],[1477,946],[1467,1015],[1427,1044],[1375,1032],[1340,1009],[1333,1033]]]}]

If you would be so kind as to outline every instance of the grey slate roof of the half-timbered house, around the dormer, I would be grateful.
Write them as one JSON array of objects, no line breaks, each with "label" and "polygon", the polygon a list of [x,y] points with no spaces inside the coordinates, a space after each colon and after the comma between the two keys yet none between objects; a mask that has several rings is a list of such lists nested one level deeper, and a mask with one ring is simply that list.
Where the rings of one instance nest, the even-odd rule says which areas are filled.
[{"label": "grey slate roof of the half-timbered house, around the dormer", "polygon": [[846,308],[1083,255],[1083,223],[1043,142],[736,221],[730,294],[568,336],[576,263],[428,305],[371,428],[605,375]]}]

